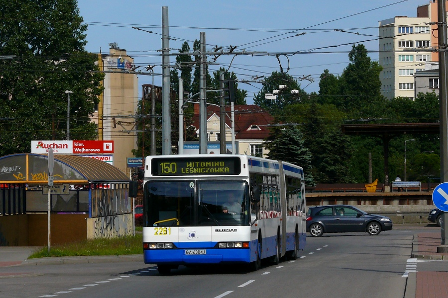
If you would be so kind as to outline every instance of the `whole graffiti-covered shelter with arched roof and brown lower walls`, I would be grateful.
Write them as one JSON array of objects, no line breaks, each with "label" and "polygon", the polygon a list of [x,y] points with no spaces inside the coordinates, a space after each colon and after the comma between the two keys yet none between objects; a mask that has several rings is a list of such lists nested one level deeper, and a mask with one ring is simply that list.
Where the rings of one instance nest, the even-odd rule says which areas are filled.
[{"label": "whole graffiti-covered shelter with arched roof and brown lower walls", "polygon": [[0,246],[51,244],[132,235],[130,179],[104,161],[54,155],[54,186],[48,186],[48,156],[0,157]]}]

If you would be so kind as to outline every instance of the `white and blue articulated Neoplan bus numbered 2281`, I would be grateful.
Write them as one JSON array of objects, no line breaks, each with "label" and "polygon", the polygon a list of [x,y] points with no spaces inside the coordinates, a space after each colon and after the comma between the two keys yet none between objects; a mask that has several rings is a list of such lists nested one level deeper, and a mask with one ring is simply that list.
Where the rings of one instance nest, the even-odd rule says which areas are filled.
[{"label": "white and blue articulated Neoplan bus numbered 2281", "polygon": [[160,274],[179,265],[278,264],[306,243],[303,169],[248,155],[145,159],[143,256]]}]

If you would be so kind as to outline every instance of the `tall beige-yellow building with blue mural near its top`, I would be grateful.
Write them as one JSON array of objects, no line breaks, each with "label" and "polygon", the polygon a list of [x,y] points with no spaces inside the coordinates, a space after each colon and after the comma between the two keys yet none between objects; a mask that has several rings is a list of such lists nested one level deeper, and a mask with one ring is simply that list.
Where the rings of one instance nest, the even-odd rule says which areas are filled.
[{"label": "tall beige-yellow building with blue mural near its top", "polygon": [[138,103],[138,78],[133,59],[126,50],[110,43],[109,54],[99,54],[98,65],[105,72],[104,91],[94,113],[98,125],[98,140],[114,143],[113,165],[126,173],[126,158],[137,149],[135,115]]}]

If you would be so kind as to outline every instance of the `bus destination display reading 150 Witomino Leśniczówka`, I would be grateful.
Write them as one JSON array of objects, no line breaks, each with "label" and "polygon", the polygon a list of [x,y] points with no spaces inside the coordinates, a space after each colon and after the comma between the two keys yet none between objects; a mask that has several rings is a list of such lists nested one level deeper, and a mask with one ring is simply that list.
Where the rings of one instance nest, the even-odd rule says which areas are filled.
[{"label": "bus destination display reading 150 Witomino Le\u015bnicz\u00f3wka", "polygon": [[238,175],[238,157],[156,157],[151,160],[153,176]]}]

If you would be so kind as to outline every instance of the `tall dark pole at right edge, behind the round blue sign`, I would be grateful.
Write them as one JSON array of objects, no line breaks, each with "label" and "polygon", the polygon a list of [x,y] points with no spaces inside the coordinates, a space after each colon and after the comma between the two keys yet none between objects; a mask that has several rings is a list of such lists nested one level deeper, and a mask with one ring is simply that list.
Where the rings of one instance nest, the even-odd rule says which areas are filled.
[{"label": "tall dark pole at right edge, behind the round blue sign", "polygon": [[[447,9],[446,1],[438,3],[439,31],[439,104],[440,104],[440,182],[448,182],[448,104],[447,104]],[[441,246],[437,252],[448,252],[447,213],[442,213]]]}]

